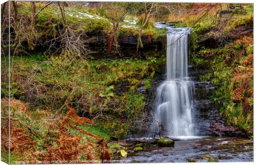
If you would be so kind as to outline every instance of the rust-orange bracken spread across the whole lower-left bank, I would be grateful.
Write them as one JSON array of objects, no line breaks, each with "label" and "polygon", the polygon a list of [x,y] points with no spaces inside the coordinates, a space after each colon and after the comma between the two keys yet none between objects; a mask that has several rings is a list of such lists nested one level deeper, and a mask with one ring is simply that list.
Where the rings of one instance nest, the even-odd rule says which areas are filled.
[{"label": "rust-orange bracken spread across the whole lower-left bank", "polygon": [[[1,111],[2,114],[8,115],[8,99],[4,98],[1,100],[2,106]],[[27,113],[26,104],[22,101],[18,101],[16,99],[11,99],[11,109],[12,113]],[[47,125],[52,130],[59,130],[59,139],[57,139],[56,144],[52,145],[52,137],[46,137],[45,146],[47,153],[43,154],[42,151],[36,151],[36,141],[33,139],[33,132],[31,129],[22,124],[18,119],[13,117],[10,118],[10,147],[9,147],[9,118],[8,116],[4,116],[1,118],[1,139],[2,139],[2,147],[6,150],[15,151],[16,153],[21,154],[20,159],[23,160],[22,154],[31,154],[28,156],[29,158],[36,160],[79,160],[82,155],[86,156],[86,160],[95,160],[100,162],[100,160],[110,160],[111,157],[109,152],[107,151],[107,143],[103,138],[98,137],[95,134],[91,134],[90,132],[83,130],[82,128],[76,125],[95,125],[95,123],[84,117],[80,117],[76,114],[75,109],[71,108],[66,104],[69,108],[69,112],[65,115],[65,117],[61,120],[55,120],[53,123],[48,123]],[[14,116],[14,114],[11,114]],[[27,115],[28,116],[28,115]],[[27,118],[30,118],[29,116]],[[4,123],[4,124],[3,124]],[[59,126],[58,126],[59,125]],[[88,141],[82,141],[82,136],[73,136],[68,133],[69,129],[78,130],[82,134],[88,135],[97,141],[97,146]],[[51,136],[51,135],[50,135]],[[100,155],[100,157],[99,157]],[[26,159],[28,159],[26,157]],[[71,162],[77,163],[77,162]],[[83,162],[81,162],[83,163]]]}]

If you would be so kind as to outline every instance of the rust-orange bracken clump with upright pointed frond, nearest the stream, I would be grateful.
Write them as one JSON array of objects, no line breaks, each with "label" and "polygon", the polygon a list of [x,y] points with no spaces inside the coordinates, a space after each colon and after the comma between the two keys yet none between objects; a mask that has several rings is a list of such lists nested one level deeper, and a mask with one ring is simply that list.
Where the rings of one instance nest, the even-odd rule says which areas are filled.
[{"label": "rust-orange bracken clump with upright pointed frond, nearest the stream", "polygon": [[[110,155],[108,151],[105,149],[107,144],[104,142],[104,139],[98,137],[95,134],[91,134],[90,132],[81,129],[76,125],[72,125],[72,123],[78,125],[87,125],[86,123],[90,123],[91,125],[95,125],[95,123],[85,117],[80,117],[76,114],[75,109],[71,108],[66,104],[67,108],[69,108],[69,112],[63,118],[59,125],[59,140],[57,140],[56,146],[48,146],[47,148],[47,156],[46,160],[78,160],[81,155],[86,155],[86,160],[97,160],[98,156],[96,153],[92,151],[97,151],[101,153],[101,157],[107,158],[110,160]],[[84,123],[86,122],[86,123]],[[93,144],[89,142],[82,142],[81,136],[75,136],[68,134],[67,127],[78,130],[79,132],[86,134],[90,137],[93,137],[98,140],[99,146],[96,148]],[[109,155],[109,157],[108,157]]]}]

